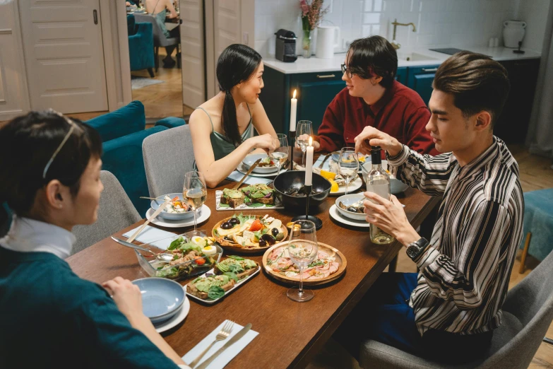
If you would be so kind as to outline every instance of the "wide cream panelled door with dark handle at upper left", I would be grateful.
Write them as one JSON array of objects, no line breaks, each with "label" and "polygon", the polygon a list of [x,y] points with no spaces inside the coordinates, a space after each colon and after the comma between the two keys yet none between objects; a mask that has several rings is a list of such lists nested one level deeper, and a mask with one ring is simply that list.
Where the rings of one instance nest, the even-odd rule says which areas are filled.
[{"label": "wide cream panelled door with dark handle at upper left", "polygon": [[32,110],[107,110],[99,0],[20,0]]}]

